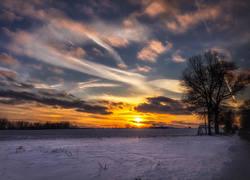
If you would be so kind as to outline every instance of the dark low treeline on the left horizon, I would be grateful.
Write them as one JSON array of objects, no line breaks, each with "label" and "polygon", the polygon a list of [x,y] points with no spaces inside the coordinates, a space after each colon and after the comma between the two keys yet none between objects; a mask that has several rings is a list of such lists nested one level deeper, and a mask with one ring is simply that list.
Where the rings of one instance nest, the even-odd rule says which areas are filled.
[{"label": "dark low treeline on the left horizon", "polygon": [[9,121],[6,118],[0,118],[0,130],[76,129],[76,128],[78,127],[72,125],[68,121],[30,123],[27,121]]}]

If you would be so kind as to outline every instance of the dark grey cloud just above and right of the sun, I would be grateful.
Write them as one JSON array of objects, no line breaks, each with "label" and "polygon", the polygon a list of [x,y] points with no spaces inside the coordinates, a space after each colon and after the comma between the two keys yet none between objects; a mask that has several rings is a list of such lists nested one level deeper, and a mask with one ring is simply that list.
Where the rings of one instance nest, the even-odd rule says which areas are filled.
[{"label": "dark grey cloud just above and right of the sun", "polygon": [[135,110],[144,113],[189,115],[190,111],[178,101],[164,96],[147,98],[147,103],[139,104]]}]

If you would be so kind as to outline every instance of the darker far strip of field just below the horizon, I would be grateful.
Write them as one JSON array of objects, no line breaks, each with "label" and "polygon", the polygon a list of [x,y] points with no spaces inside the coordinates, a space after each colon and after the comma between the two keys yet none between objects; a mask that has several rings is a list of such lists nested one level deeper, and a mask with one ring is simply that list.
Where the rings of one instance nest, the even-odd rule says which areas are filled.
[{"label": "darker far strip of field just below the horizon", "polygon": [[169,137],[195,135],[195,128],[169,129],[58,129],[58,130],[4,130],[0,141],[28,139],[75,139],[100,137]]}]

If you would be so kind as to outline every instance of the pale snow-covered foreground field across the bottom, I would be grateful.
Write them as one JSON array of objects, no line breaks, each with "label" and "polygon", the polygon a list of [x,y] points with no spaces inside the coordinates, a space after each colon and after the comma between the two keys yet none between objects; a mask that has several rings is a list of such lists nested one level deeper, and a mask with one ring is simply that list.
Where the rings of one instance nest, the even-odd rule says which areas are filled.
[{"label": "pale snow-covered foreground field across the bottom", "polygon": [[234,136],[0,141],[0,179],[250,179]]}]

